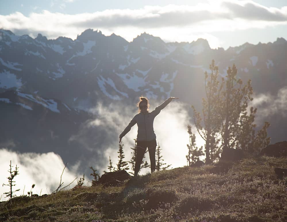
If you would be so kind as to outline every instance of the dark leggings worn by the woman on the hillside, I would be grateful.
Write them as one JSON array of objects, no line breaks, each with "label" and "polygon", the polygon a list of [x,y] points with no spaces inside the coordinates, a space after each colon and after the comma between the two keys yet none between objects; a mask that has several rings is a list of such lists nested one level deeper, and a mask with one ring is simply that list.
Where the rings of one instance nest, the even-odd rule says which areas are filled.
[{"label": "dark leggings worn by the woman on the hillside", "polygon": [[156,140],[152,141],[138,141],[136,146],[136,164],[134,166],[134,175],[138,175],[140,171],[140,164],[142,163],[142,158],[145,155],[147,148],[149,149],[149,159],[151,160],[151,173],[155,171],[155,148],[157,146]]}]

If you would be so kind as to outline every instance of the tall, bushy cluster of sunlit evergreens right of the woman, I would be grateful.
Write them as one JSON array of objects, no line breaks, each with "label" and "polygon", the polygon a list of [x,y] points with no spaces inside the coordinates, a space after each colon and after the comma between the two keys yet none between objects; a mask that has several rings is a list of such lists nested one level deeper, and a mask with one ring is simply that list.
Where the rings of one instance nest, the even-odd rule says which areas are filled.
[{"label": "tall, bushy cluster of sunlit evergreens right of the woman", "polygon": [[[265,148],[270,137],[267,137],[269,123],[255,133],[256,108],[248,107],[253,100],[251,80],[243,85],[237,78],[237,68],[228,67],[227,75],[219,81],[218,66],[212,60],[211,72],[205,71],[205,98],[202,99],[202,114],[194,112],[194,123],[199,135],[205,140],[205,163],[216,162],[222,150],[241,149],[256,155]],[[247,111],[247,108],[250,110]]]}]

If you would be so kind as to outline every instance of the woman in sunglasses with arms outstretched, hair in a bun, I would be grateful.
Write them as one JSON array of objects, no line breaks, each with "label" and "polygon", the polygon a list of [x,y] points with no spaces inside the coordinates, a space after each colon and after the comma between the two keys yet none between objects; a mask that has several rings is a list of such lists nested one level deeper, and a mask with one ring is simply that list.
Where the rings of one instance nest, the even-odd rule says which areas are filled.
[{"label": "woman in sunglasses with arms outstretched, hair in a bun", "polygon": [[120,142],[124,135],[126,135],[132,126],[138,125],[138,136],[136,138],[136,164],[134,166],[134,176],[138,175],[140,170],[140,164],[142,158],[145,154],[146,149],[149,149],[149,158],[151,160],[151,172],[155,171],[155,148],[157,146],[156,135],[153,130],[153,120],[160,113],[160,111],[165,108],[173,99],[178,99],[175,97],[169,97],[160,106],[155,108],[152,112],[149,112],[149,100],[146,97],[140,97],[140,102],[137,106],[139,108],[139,113],[132,118],[129,125],[120,134]]}]

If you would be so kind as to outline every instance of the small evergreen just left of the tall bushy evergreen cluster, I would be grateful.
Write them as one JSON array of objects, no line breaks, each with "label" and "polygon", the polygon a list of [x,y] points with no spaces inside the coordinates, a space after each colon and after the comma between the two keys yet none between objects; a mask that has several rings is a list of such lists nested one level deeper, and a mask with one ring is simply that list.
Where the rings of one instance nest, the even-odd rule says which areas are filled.
[{"label": "small evergreen just left of the tall bushy evergreen cluster", "polygon": [[188,154],[186,155],[187,165],[190,166],[199,160],[199,157],[203,155],[203,147],[198,148],[195,145],[195,134],[191,131],[191,126],[187,125],[187,132],[189,134],[189,144],[186,144],[188,148]]}]

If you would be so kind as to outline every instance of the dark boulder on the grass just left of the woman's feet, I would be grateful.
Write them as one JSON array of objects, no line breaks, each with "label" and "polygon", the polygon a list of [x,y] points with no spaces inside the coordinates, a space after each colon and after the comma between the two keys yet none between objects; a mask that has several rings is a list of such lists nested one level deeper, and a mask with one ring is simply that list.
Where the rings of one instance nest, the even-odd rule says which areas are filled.
[{"label": "dark boulder on the grass just left of the woman's feet", "polygon": [[99,183],[104,185],[117,186],[121,185],[125,180],[130,179],[131,176],[125,170],[115,172],[107,172],[99,178]]}]

